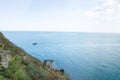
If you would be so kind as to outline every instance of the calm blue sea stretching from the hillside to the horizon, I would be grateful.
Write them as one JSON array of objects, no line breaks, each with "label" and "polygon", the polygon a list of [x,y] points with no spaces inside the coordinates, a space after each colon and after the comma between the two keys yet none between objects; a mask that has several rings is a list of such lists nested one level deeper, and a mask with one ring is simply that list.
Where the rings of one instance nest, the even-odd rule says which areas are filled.
[{"label": "calm blue sea stretching from the hillside to the horizon", "polygon": [[120,34],[3,33],[32,56],[54,59],[54,66],[63,67],[72,80],[120,80]]}]

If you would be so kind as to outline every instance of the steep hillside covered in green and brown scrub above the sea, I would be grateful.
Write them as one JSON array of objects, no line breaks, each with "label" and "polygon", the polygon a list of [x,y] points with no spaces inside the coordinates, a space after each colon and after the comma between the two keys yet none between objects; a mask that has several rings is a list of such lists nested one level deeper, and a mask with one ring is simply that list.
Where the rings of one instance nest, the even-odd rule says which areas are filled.
[{"label": "steep hillside covered in green and brown scrub above the sea", "polygon": [[0,32],[0,80],[70,80],[11,43]]}]

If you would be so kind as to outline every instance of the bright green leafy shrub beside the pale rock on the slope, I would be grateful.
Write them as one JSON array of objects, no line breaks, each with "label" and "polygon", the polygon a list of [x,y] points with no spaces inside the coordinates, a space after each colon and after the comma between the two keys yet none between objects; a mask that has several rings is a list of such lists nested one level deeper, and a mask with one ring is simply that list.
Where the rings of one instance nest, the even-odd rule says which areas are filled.
[{"label": "bright green leafy shrub beside the pale rock on the slope", "polygon": [[21,62],[22,58],[18,55],[14,56],[9,62],[7,73],[11,75],[13,80],[27,80],[27,75]]}]

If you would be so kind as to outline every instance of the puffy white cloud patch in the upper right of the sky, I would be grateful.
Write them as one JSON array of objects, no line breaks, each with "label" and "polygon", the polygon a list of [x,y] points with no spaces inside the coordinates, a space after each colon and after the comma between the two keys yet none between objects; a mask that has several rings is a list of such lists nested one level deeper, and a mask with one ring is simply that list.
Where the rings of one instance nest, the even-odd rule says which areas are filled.
[{"label": "puffy white cloud patch in the upper right of the sky", "polygon": [[120,2],[117,0],[96,0],[98,5],[85,14],[91,17],[116,18],[120,16]]}]

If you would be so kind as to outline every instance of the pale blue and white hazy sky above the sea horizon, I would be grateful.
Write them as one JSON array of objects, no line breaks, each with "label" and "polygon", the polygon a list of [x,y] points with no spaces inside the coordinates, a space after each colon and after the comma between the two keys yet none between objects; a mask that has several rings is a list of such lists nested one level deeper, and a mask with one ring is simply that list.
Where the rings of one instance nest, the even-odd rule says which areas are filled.
[{"label": "pale blue and white hazy sky above the sea horizon", "polygon": [[120,0],[0,0],[0,31],[120,33]]}]

